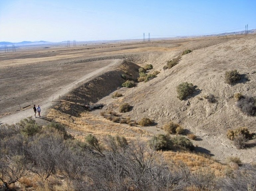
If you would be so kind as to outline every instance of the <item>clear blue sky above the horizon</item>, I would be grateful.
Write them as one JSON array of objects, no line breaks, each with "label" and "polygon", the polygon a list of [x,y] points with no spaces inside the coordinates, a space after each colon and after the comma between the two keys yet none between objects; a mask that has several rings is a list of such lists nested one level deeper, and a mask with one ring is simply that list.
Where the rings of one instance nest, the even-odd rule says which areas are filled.
[{"label": "clear blue sky above the horizon", "polygon": [[0,41],[119,40],[256,28],[256,0],[0,0]]}]

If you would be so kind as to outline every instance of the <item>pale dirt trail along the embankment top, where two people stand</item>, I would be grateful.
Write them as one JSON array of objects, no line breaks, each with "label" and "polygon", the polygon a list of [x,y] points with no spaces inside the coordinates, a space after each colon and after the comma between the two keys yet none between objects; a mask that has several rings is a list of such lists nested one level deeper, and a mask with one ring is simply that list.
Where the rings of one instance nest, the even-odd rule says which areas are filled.
[{"label": "pale dirt trail along the embankment top, where two people stand", "polygon": [[[95,70],[94,72],[90,72],[90,73],[84,75],[82,78],[80,78],[76,82],[72,82],[70,84],[63,86],[60,91],[60,96],[66,95],[72,89],[80,86],[81,84],[85,83],[86,81],[89,81],[89,80],[99,76],[100,74],[102,74],[104,72],[107,72],[112,68],[116,68],[122,62],[123,62],[123,60],[121,60],[121,59],[120,60],[110,60],[108,65],[106,65],[98,70]],[[40,102],[41,103],[40,107],[42,108],[42,112],[41,112],[42,117],[35,118],[36,122],[38,122],[39,124],[46,124],[47,122],[49,122],[49,119],[47,119],[45,116],[47,115],[48,110],[51,107],[53,107],[53,105],[55,105],[57,100],[58,100],[58,98],[56,98],[53,102],[53,98],[48,97],[48,98],[44,99],[42,102]],[[32,107],[28,107],[28,108],[21,110],[15,114],[1,117],[0,124],[2,124],[2,123],[13,124],[13,123],[20,121],[21,119],[24,119],[24,118],[27,118],[30,116],[34,117]]]}]

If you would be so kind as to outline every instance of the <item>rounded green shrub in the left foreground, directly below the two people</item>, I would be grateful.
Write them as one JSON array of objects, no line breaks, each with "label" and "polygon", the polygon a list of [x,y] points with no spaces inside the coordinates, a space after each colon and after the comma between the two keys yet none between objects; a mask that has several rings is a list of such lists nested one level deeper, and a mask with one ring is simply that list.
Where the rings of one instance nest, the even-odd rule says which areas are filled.
[{"label": "rounded green shrub in the left foreground, directly below the two people", "polygon": [[21,133],[28,136],[33,136],[42,130],[42,126],[37,124],[36,121],[32,119],[32,117],[22,119],[17,124],[20,126]]}]

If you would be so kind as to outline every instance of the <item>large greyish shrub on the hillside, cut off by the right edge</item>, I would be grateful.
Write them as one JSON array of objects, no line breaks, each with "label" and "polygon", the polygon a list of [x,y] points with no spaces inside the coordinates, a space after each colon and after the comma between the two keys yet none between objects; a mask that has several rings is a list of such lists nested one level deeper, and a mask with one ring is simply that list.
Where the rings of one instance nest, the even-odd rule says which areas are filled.
[{"label": "large greyish shrub on the hillside, cut off by the right edge", "polygon": [[236,106],[248,116],[254,116],[256,113],[256,101],[254,97],[243,96],[237,100]]}]

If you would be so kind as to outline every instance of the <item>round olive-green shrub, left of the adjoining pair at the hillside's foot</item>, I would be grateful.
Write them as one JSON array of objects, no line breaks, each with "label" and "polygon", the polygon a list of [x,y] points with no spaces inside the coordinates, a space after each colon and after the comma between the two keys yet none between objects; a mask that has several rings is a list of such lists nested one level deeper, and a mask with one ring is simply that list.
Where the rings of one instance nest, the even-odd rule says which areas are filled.
[{"label": "round olive-green shrub, left of the adjoining pair at the hillside's foot", "polygon": [[172,148],[172,141],[168,135],[159,134],[149,141],[151,149],[169,150]]}]

